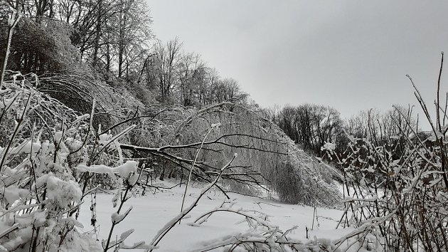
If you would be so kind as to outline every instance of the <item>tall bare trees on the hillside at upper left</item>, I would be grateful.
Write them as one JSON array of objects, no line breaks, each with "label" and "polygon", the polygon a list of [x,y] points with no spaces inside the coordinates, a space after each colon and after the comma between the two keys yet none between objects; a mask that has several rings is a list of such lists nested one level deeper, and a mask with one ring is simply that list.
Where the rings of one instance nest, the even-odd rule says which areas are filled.
[{"label": "tall bare trees on the hillside at upper left", "polygon": [[[91,75],[129,90],[145,105],[247,102],[237,80],[221,78],[200,54],[183,50],[179,38],[157,40],[144,0],[6,0],[0,4],[1,23],[7,22],[9,9],[23,16],[6,69]],[[1,27],[1,57],[6,29]]]}]

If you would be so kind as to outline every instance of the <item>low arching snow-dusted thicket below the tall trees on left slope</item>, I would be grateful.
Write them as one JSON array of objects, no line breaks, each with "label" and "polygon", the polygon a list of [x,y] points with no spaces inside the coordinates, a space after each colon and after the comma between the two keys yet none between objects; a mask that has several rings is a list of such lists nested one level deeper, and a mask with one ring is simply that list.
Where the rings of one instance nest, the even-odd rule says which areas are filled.
[{"label": "low arching snow-dusted thicket below the tall trees on left slope", "polygon": [[105,132],[110,128],[116,134],[136,122],[142,123],[139,116],[144,105],[139,100],[125,88],[112,88],[88,71],[44,73],[34,85],[38,91],[82,114],[90,114],[95,101],[93,126],[102,125]]}]

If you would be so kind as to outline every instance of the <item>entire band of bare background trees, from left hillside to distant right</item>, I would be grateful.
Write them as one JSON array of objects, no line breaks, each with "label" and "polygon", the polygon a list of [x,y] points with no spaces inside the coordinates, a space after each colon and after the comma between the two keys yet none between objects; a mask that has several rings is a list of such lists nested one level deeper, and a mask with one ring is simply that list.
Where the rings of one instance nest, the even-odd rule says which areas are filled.
[{"label": "entire band of bare background trees, from left hillside to distant right", "polygon": [[[367,110],[348,119],[330,105],[260,107],[238,80],[222,78],[200,53],[184,51],[179,38],[158,41],[151,33],[145,1],[6,1],[1,8],[3,23],[9,6],[23,10],[24,15],[12,37],[6,69],[45,76],[41,90],[80,112],[90,112],[92,100],[99,95],[95,85],[132,95],[139,104],[129,107],[158,104],[201,109],[237,100],[319,157],[326,142],[343,152],[346,134],[390,141],[405,126],[402,114],[412,117],[412,127],[417,125],[411,108],[402,105],[398,105],[402,113],[395,108]],[[0,45],[5,50],[7,33],[2,34]],[[80,75],[86,83],[79,83],[78,89],[70,87],[70,80],[64,80],[68,75]]]}]

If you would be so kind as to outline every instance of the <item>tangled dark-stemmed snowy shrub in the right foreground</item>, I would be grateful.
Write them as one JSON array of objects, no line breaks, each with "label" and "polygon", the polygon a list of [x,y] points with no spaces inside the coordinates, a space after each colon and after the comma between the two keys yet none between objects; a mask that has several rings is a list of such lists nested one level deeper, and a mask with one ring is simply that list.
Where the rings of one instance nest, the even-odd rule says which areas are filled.
[{"label": "tangled dark-stemmed snowy shrub in the right foreground", "polygon": [[[341,167],[345,196],[338,226],[354,228],[345,239],[351,238],[359,248],[448,251],[447,128],[442,126],[443,111],[437,110],[437,119],[432,121],[414,88],[432,135],[419,134],[411,113],[396,108],[401,122],[393,118],[400,131],[395,136],[381,142],[349,137],[344,158],[334,155]],[[442,105],[436,102],[436,107]]]}]

